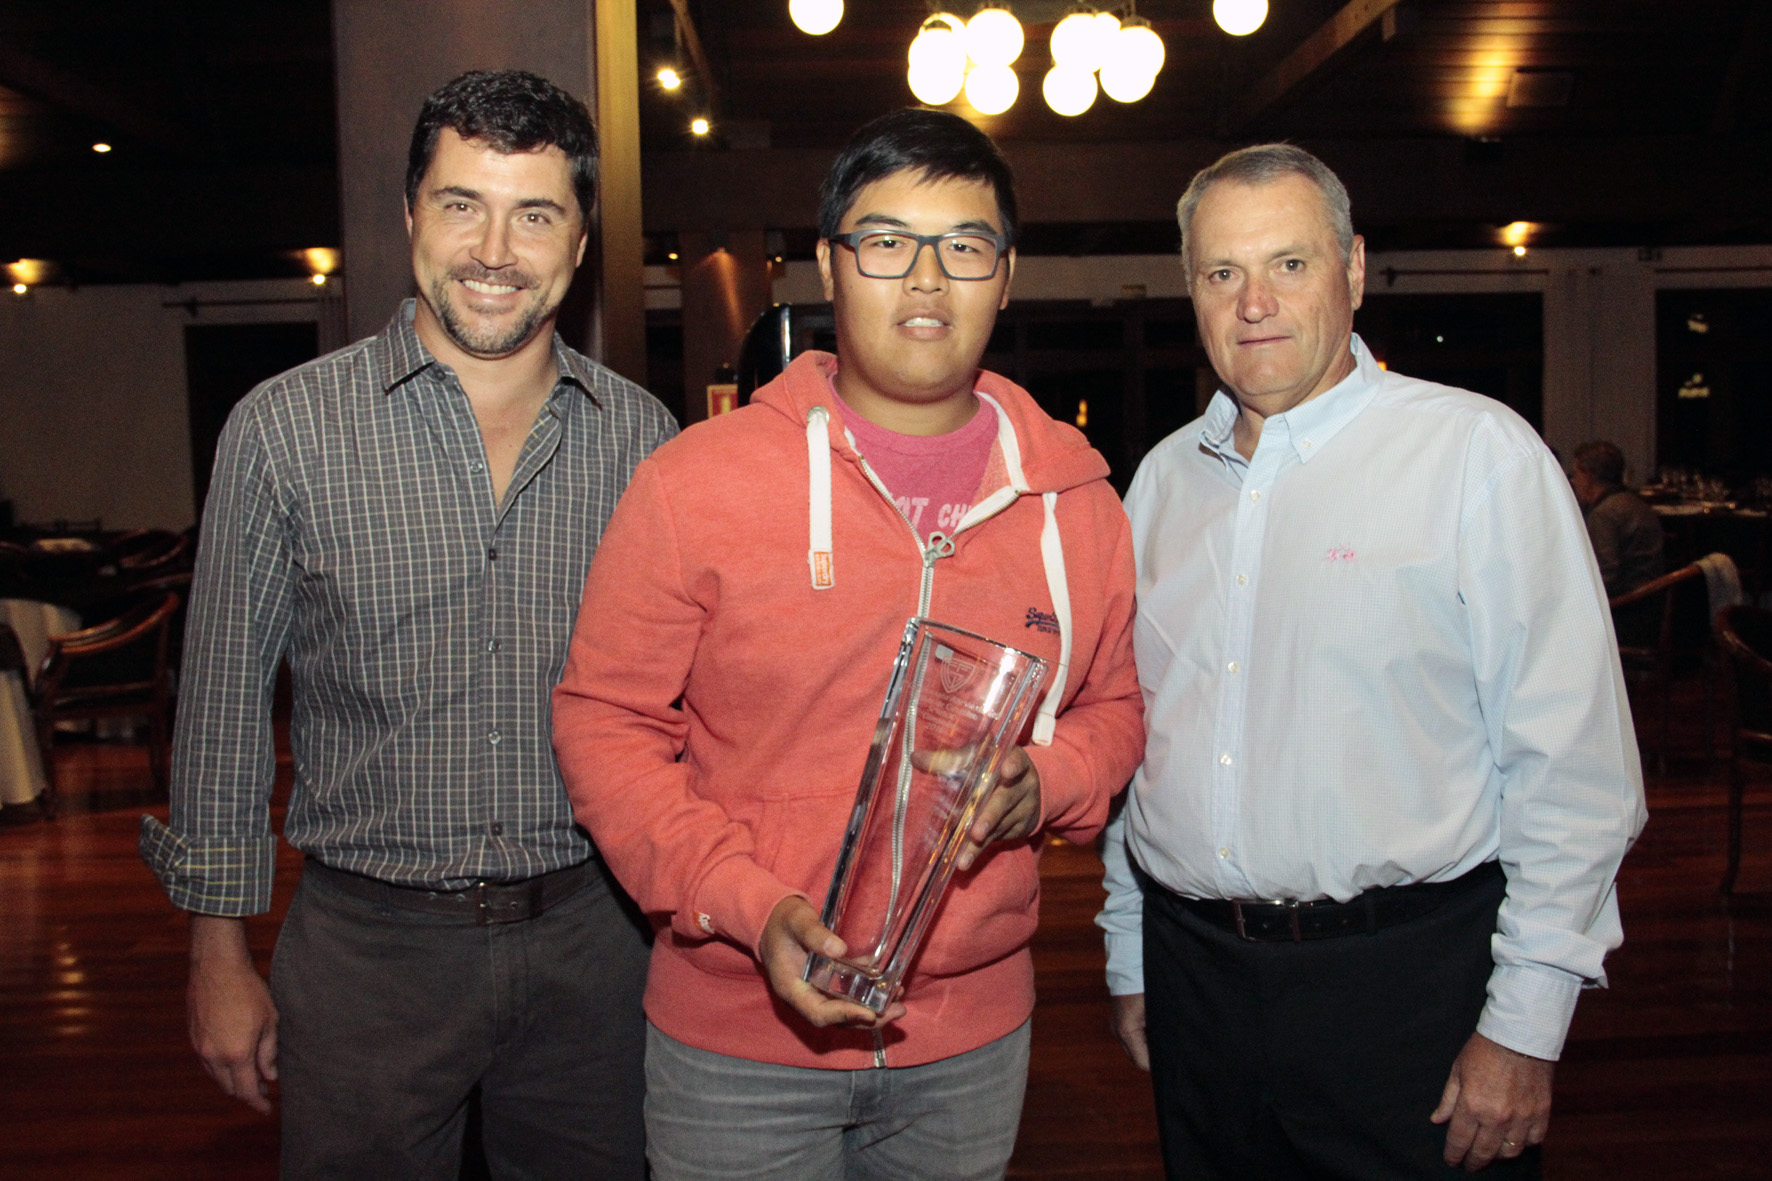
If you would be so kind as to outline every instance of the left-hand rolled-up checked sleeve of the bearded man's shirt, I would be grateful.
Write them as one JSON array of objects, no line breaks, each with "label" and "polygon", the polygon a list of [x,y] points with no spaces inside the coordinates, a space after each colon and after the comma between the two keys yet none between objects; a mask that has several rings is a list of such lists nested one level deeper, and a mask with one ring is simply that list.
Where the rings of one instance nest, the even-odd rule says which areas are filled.
[{"label": "left-hand rolled-up checked sleeve of the bearded man's shirt", "polygon": [[294,569],[273,447],[250,397],[229,417],[204,509],[172,747],[172,821],[142,817],[142,858],[172,903],[271,908],[271,697]]}]

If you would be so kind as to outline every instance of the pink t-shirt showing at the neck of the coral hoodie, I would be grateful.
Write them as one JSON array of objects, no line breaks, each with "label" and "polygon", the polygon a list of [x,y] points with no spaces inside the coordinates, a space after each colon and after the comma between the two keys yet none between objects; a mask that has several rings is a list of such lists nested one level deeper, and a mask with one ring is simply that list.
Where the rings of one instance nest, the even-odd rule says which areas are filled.
[{"label": "pink t-shirt showing at the neck of the coral hoodie", "polygon": [[868,422],[843,401],[843,426],[856,438],[856,450],[881,477],[898,511],[918,537],[952,534],[973,507],[973,497],[991,463],[996,442],[996,411],[978,403],[978,413],[948,434],[900,434]]}]

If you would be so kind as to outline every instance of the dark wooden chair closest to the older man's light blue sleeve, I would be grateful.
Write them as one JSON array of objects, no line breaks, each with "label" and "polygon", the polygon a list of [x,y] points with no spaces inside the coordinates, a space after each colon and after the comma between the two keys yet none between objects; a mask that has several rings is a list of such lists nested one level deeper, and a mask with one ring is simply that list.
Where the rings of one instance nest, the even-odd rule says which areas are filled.
[{"label": "dark wooden chair closest to the older man's light blue sleeve", "polygon": [[1667,773],[1667,713],[1673,683],[1694,669],[1705,672],[1705,759],[1714,757],[1715,679],[1710,672],[1710,587],[1694,562],[1609,599],[1618,660],[1625,679],[1660,697],[1655,759]]}]

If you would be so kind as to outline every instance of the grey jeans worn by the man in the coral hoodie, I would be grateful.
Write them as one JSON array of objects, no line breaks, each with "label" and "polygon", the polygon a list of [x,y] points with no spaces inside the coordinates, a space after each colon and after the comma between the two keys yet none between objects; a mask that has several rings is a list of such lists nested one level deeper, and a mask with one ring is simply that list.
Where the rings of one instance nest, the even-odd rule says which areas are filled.
[{"label": "grey jeans worn by the man in the coral hoodie", "polygon": [[647,1027],[654,1181],[989,1181],[1015,1149],[1031,1023],[927,1066],[820,1071]]}]

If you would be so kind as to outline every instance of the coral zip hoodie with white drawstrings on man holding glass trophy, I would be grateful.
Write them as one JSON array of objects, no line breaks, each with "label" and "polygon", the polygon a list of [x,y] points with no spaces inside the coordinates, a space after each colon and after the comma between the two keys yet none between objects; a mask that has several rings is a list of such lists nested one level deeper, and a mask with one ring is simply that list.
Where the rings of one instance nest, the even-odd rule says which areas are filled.
[{"label": "coral zip hoodie with white drawstrings on man holding glass trophy", "polygon": [[[1132,544],[1108,465],[1019,387],[985,481],[929,546],[842,427],[836,358],[806,353],[730,415],[659,447],[597,550],[555,690],[572,807],[659,924],[647,1016],[783,1066],[914,1066],[1033,1011],[1028,940],[1045,832],[1088,841],[1143,750]],[[1030,725],[1044,832],[959,874],[879,1036],[813,1028],[757,961],[769,911],[822,904],[904,622],[929,615],[1044,656]]]}]

